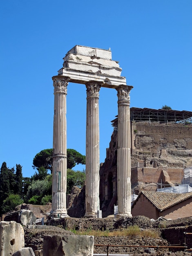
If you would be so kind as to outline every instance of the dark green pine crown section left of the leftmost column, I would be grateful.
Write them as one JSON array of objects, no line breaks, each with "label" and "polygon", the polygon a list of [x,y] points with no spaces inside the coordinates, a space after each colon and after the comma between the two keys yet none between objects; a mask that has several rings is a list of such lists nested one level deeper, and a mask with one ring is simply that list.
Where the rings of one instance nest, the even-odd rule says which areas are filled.
[{"label": "dark green pine crown section left of the leftmost column", "polygon": [[53,149],[48,148],[41,150],[37,155],[33,158],[33,165],[37,168],[44,167],[47,170],[50,170],[52,173],[53,166]]}]

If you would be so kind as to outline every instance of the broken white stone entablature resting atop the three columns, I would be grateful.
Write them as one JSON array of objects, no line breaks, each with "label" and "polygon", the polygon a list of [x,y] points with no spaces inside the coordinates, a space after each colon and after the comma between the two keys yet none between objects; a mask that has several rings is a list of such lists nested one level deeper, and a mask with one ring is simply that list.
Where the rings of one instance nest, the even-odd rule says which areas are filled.
[{"label": "broken white stone entablature resting atop the three columns", "polygon": [[112,61],[110,50],[76,45],[63,60],[58,75],[70,77],[72,83],[98,81],[103,83],[102,87],[107,88],[126,85],[125,77],[121,76],[122,69],[118,61]]}]

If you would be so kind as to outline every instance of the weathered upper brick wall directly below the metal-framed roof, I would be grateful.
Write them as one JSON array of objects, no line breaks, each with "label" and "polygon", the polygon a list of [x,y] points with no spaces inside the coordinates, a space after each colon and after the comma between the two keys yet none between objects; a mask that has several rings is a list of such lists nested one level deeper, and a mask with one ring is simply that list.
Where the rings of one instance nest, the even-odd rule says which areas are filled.
[{"label": "weathered upper brick wall directly below the metal-framed roof", "polygon": [[192,124],[132,122],[131,135],[132,168],[192,165]]}]

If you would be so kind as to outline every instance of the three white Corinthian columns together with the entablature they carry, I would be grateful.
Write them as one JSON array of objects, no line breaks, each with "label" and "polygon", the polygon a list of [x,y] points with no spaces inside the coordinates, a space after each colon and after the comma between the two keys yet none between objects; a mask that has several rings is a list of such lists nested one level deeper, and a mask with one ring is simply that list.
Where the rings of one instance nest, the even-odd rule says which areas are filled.
[{"label": "three white Corinthian columns together with the entablature they carry", "polygon": [[110,50],[76,45],[67,52],[63,67],[53,76],[54,137],[52,211],[54,218],[68,217],[66,210],[67,126],[66,95],[69,82],[87,88],[86,121],[86,212],[97,217],[99,207],[99,91],[101,87],[117,90],[118,96],[118,216],[131,216],[131,141],[129,92],[132,86],[121,76],[118,62]]}]

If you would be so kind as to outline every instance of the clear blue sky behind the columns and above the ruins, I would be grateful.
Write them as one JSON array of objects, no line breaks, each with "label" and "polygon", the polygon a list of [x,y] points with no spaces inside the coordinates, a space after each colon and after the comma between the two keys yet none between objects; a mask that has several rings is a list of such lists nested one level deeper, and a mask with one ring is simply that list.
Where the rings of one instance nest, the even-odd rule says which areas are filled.
[{"label": "clear blue sky behind the columns and above the ruins", "polygon": [[[52,76],[75,45],[109,49],[131,91],[131,107],[192,111],[191,0],[2,0],[0,166],[52,148]],[[117,115],[116,90],[101,88],[100,162]],[[67,148],[85,155],[86,88],[69,83]],[[76,170],[85,166],[78,165]]]}]

